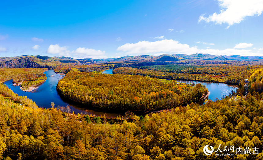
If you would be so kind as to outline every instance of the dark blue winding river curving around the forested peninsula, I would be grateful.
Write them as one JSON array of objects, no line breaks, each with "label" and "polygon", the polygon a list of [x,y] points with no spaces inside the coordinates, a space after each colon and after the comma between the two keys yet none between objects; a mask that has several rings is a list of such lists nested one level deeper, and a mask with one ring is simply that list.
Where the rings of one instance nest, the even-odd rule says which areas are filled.
[{"label": "dark blue winding river curving around the forested peninsula", "polygon": [[[113,74],[113,69],[105,70],[102,73],[103,74]],[[89,105],[82,105],[82,104],[76,104],[72,101],[69,101],[63,97],[61,97],[57,92],[57,82],[63,78],[60,74],[57,74],[54,72],[54,70],[47,70],[44,72],[46,74],[46,81],[39,86],[38,88],[33,90],[32,92],[24,92],[20,89],[19,86],[14,86],[12,84],[12,79],[6,82],[3,82],[3,84],[7,85],[11,90],[13,90],[15,93],[17,93],[20,96],[27,96],[28,98],[32,99],[36,102],[36,104],[39,107],[43,108],[50,108],[51,102],[55,103],[55,107],[58,105],[60,106],[67,106],[69,105],[71,110],[75,113],[81,113],[85,112],[85,110],[88,110],[88,113],[92,115],[103,115],[107,114],[109,117],[117,117],[117,116],[123,116],[123,113],[109,113],[104,112],[103,110],[95,109],[92,106]],[[184,82],[184,83],[202,83],[206,86],[206,88],[209,90],[210,95],[208,98],[210,98],[212,101],[214,101],[216,98],[220,99],[223,97],[223,95],[228,95],[232,90],[236,90],[238,86],[232,86],[227,85],[224,83],[213,83],[213,82],[197,82],[197,81],[177,81],[177,82]],[[201,102],[202,104],[203,102]]]}]

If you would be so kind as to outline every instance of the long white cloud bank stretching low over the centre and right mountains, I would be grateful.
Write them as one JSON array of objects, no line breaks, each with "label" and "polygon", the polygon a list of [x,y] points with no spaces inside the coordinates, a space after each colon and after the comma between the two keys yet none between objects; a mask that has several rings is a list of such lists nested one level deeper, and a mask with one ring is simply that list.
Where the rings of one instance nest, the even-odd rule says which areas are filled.
[{"label": "long white cloud bank stretching low over the centre and right mountains", "polygon": [[251,50],[228,48],[224,50],[218,49],[198,49],[196,46],[190,47],[188,44],[181,44],[176,40],[157,40],[154,42],[139,41],[138,43],[127,43],[117,48],[117,51],[129,54],[153,54],[159,55],[160,53],[168,54],[194,54],[203,53],[211,55],[254,55],[262,56],[259,53],[253,53]]}]

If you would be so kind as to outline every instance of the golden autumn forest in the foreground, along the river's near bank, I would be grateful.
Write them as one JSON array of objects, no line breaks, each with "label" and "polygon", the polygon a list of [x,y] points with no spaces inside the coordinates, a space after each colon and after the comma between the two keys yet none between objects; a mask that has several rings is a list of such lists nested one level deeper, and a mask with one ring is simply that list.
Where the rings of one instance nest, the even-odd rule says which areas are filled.
[{"label": "golden autumn forest in the foreground, along the river's near bank", "polygon": [[245,99],[234,95],[144,117],[130,114],[113,124],[103,116],[38,108],[2,84],[0,93],[0,156],[8,160],[218,159],[215,152],[203,153],[207,144],[259,151],[221,159],[263,158],[263,104],[250,93]]}]

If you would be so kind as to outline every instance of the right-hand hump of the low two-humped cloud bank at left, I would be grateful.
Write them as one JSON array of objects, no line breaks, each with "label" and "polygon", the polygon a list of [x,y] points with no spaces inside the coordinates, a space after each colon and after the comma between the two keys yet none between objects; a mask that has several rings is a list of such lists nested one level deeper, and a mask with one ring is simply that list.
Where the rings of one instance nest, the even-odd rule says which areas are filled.
[{"label": "right-hand hump of the low two-humped cloud bank at left", "polygon": [[90,48],[77,48],[75,51],[72,51],[74,58],[83,59],[83,58],[107,58],[105,51],[95,50]]}]

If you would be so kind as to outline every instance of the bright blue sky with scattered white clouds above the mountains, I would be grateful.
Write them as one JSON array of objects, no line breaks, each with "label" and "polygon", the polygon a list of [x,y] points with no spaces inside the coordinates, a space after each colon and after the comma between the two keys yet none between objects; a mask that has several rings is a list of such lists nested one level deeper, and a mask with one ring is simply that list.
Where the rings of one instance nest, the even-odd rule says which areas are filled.
[{"label": "bright blue sky with scattered white clouds above the mountains", "polygon": [[263,0],[3,1],[0,56],[262,55]]}]

